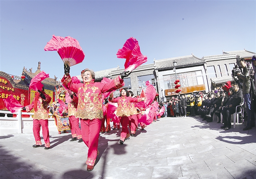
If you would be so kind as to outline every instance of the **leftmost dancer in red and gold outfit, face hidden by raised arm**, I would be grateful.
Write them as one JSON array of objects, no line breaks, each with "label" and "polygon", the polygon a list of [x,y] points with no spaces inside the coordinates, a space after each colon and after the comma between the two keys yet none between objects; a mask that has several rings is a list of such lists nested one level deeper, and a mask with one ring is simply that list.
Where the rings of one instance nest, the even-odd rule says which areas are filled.
[{"label": "leftmost dancer in red and gold outfit, face hidden by raised arm", "polygon": [[36,144],[33,148],[40,147],[42,145],[40,137],[40,128],[42,126],[42,133],[44,137],[44,149],[48,150],[50,148],[50,138],[48,129],[48,118],[49,109],[48,104],[51,102],[52,98],[44,92],[44,87],[41,92],[35,93],[33,102],[23,107],[23,110],[27,112],[34,109],[34,119],[33,119],[33,133],[36,140]]}]

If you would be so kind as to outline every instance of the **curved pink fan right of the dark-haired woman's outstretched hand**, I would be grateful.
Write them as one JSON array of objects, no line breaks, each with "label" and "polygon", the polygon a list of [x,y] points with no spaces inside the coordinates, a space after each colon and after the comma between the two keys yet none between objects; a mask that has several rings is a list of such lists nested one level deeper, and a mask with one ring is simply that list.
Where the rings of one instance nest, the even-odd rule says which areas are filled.
[{"label": "curved pink fan right of the dark-haired woman's outstretched hand", "polygon": [[156,89],[154,88],[154,86],[152,84],[150,84],[149,81],[146,81],[146,86],[147,86],[146,92],[145,92],[146,100],[136,103],[135,107],[145,108],[149,104],[151,104],[153,102],[153,100],[155,99]]}]

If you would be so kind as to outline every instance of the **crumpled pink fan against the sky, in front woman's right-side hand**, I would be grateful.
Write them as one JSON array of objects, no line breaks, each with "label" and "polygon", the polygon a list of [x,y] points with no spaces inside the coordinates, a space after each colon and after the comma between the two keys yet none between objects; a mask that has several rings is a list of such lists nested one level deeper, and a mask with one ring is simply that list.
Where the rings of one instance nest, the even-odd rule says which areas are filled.
[{"label": "crumpled pink fan against the sky, in front woman's right-side hand", "polygon": [[125,42],[122,49],[117,51],[117,58],[125,58],[125,71],[132,71],[142,63],[147,61],[147,56],[143,56],[140,52],[140,46],[136,39],[130,37]]}]

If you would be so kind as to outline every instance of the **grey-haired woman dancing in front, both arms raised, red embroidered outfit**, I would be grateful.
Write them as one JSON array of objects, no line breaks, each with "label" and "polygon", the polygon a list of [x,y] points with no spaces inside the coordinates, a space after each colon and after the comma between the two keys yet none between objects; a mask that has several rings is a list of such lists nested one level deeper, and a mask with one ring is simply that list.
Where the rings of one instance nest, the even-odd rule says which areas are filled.
[{"label": "grey-haired woman dancing in front, both arms raised, red embroidered outfit", "polygon": [[61,82],[69,90],[77,94],[78,105],[75,113],[76,118],[81,118],[82,139],[87,145],[87,171],[94,168],[97,157],[97,148],[101,119],[103,119],[102,93],[109,92],[124,86],[123,78],[129,75],[129,72],[123,72],[109,83],[94,82],[95,73],[88,68],[81,72],[83,83],[75,84],[69,75],[70,67],[64,65],[65,75]]}]

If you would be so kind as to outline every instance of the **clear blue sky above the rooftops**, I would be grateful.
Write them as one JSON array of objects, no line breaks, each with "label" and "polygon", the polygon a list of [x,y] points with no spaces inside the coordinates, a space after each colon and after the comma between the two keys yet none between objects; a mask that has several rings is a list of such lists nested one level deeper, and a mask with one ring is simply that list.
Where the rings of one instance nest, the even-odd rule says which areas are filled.
[{"label": "clear blue sky above the rooftops", "polygon": [[125,41],[139,41],[148,62],[224,51],[256,52],[256,1],[0,1],[0,70],[20,75],[25,66],[60,79],[57,51],[44,51],[52,35],[77,39],[85,53],[71,75],[124,67],[116,57]]}]

